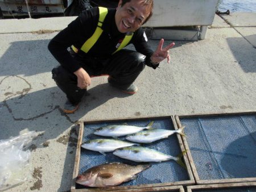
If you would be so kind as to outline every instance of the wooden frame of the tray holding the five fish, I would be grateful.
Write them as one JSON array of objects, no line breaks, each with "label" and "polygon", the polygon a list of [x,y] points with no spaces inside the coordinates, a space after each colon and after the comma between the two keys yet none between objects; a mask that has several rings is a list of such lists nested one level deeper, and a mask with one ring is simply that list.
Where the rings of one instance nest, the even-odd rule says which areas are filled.
[{"label": "wooden frame of the tray holding the five fish", "polygon": [[[80,130],[79,130],[79,136],[77,141],[77,149],[76,149],[76,157],[75,157],[75,165],[74,165],[74,171],[73,171],[73,181],[72,181],[72,187],[71,191],[154,191],[154,190],[160,190],[160,191],[172,191],[179,189],[179,191],[183,191],[180,187],[180,185],[193,185],[195,184],[195,180],[193,178],[192,170],[188,162],[187,155],[183,156],[184,163],[187,167],[187,177],[188,180],[185,181],[175,181],[175,182],[163,182],[163,183],[151,183],[151,184],[143,184],[143,185],[129,185],[129,186],[115,186],[115,187],[105,187],[105,188],[85,188],[85,189],[78,189],[76,187],[76,177],[79,174],[79,166],[80,166],[80,156],[81,156],[81,148],[80,145],[83,142],[84,138],[84,131],[86,126],[90,126],[92,124],[101,124],[101,123],[115,123],[115,122],[137,122],[137,121],[157,121],[157,120],[167,120],[170,121],[173,128],[177,130],[177,124],[175,122],[174,116],[150,116],[146,118],[126,118],[126,119],[101,119],[101,120],[90,120],[85,122],[80,122]],[[153,126],[154,127],[154,126]],[[179,134],[175,134],[177,138],[177,142],[180,148],[180,151],[184,151],[183,142],[181,140],[181,136]],[[172,135],[171,137],[175,137]],[[169,138],[169,137],[168,137]]]}]

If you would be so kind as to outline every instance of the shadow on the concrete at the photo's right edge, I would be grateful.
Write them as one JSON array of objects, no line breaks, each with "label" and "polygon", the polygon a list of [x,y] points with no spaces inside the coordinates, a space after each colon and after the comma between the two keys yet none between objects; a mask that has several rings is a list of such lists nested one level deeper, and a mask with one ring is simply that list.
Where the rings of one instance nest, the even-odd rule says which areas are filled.
[{"label": "shadow on the concrete at the photo's right edge", "polygon": [[243,37],[228,38],[227,41],[230,50],[233,52],[233,56],[240,64],[243,71],[246,73],[255,73],[256,49],[251,48],[252,45],[248,44]]}]

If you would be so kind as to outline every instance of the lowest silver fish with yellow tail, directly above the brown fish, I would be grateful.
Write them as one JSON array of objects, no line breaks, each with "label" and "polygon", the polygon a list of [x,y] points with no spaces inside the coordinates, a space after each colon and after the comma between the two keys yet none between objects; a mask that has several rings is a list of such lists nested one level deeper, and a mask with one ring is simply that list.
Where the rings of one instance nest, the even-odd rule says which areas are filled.
[{"label": "lowest silver fish with yellow tail, directly above the brown fish", "polygon": [[185,166],[181,161],[181,157],[186,151],[183,151],[179,156],[174,157],[162,152],[156,151],[154,149],[146,148],[146,147],[123,147],[116,149],[113,154],[121,157],[126,158],[127,160],[136,161],[136,162],[161,162],[161,161],[168,161],[174,160],[179,165]]}]

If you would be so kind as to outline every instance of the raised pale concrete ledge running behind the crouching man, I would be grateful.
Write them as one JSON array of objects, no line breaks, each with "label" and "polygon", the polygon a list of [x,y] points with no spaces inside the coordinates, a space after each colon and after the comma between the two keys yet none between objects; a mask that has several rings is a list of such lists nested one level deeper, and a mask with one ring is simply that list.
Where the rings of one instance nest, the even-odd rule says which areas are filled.
[{"label": "raised pale concrete ledge running behind the crouching man", "polygon": [[[10,34],[19,32],[35,32],[35,31],[60,31],[67,27],[76,16],[56,17],[56,18],[40,18],[40,19],[2,19],[0,25],[0,34]],[[212,28],[230,27],[256,27],[256,13],[240,12],[230,15],[215,15]]]}]

